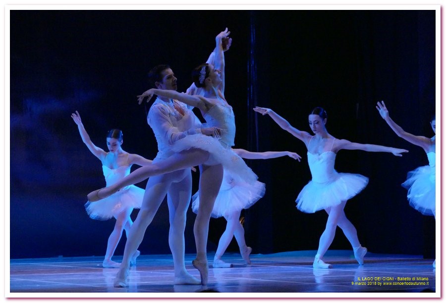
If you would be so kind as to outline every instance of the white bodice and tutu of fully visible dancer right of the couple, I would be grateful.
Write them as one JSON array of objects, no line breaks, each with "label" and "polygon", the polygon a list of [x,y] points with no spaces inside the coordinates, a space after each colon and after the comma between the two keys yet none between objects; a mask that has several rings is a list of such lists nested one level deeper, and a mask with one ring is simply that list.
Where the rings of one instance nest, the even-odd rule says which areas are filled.
[{"label": "white bodice and tutu of fully visible dancer right of the couple", "polygon": [[339,205],[357,195],[369,182],[369,178],[361,174],[336,172],[336,154],[332,151],[307,154],[312,180],[297,196],[296,207],[301,212],[315,213]]}]

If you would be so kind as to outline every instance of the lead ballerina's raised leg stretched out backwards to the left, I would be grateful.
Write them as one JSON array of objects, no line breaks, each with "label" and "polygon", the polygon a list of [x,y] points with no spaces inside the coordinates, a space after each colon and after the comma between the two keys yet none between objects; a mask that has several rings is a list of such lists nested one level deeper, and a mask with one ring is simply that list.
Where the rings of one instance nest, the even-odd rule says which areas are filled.
[{"label": "lead ballerina's raised leg stretched out backwards to the left", "polygon": [[209,159],[209,152],[201,149],[185,150],[177,154],[173,154],[169,158],[142,166],[111,186],[97,189],[87,195],[88,201],[94,202],[104,199],[119,189],[144,181],[150,176],[171,173],[178,170],[191,168],[193,166],[205,163]]}]

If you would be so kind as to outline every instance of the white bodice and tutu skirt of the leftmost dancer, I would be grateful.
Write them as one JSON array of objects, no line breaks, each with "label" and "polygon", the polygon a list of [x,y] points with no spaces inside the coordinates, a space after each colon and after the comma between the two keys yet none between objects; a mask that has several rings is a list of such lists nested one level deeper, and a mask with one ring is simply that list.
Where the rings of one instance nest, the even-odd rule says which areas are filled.
[{"label": "white bodice and tutu skirt of the leftmost dancer", "polygon": [[[111,169],[107,166],[103,166],[103,171],[107,181],[107,186],[110,186],[118,179],[121,179],[129,174],[130,166],[121,166],[117,169]],[[143,197],[144,189],[135,185],[129,185],[105,199],[101,199],[97,202],[87,202],[85,204],[85,210],[87,211],[88,216],[90,216],[92,219],[108,220],[129,208],[141,208]]]}]

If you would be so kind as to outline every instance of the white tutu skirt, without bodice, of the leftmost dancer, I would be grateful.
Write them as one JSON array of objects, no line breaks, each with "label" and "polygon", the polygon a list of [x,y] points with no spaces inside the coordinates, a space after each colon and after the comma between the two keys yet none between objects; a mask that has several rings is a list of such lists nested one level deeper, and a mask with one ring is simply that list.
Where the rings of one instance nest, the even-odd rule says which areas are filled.
[{"label": "white tutu skirt, without bodice, of the leftmost dancer", "polygon": [[128,208],[141,208],[143,197],[144,189],[130,185],[105,199],[87,202],[85,210],[92,219],[108,220]]}]

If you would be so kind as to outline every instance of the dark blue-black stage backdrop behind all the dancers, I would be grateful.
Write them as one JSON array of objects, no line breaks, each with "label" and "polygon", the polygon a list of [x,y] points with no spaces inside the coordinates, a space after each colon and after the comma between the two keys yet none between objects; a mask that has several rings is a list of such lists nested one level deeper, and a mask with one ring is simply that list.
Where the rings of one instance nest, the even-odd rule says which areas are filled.
[{"label": "dark blue-black stage backdrop behind all the dancers", "polygon": [[[83,207],[86,194],[104,185],[101,164],[70,114],[79,111],[96,145],[106,148],[107,131],[119,128],[124,150],[155,157],[146,109],[135,98],[148,88],[147,71],[169,64],[184,91],[224,27],[233,38],[225,53],[226,98],[236,115],[236,147],[291,150],[304,158],[248,161],[267,183],[266,196],[243,213],[253,253],[317,249],[326,214],[297,211],[294,200],[311,178],[305,146],[252,107],[271,107],[308,130],[309,111],[323,106],[334,136],[410,151],[402,158],[338,154],[338,171],[370,178],[345,208],[361,244],[376,253],[433,256],[434,220],[410,208],[400,186],[408,171],[427,164],[426,155],[399,139],[375,104],[386,100],[405,130],[433,135],[434,11],[13,10],[10,20],[11,258],[105,254],[114,220],[92,220]],[[195,250],[194,218],[189,211],[188,253]],[[209,250],[224,223],[212,220]],[[143,254],[169,253],[167,224],[163,205]],[[349,249],[340,231],[331,249]],[[116,255],[122,252],[123,243]]]}]

